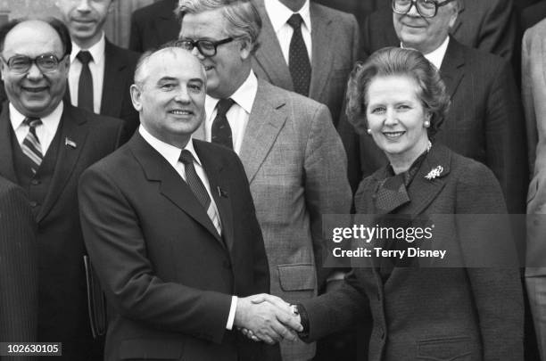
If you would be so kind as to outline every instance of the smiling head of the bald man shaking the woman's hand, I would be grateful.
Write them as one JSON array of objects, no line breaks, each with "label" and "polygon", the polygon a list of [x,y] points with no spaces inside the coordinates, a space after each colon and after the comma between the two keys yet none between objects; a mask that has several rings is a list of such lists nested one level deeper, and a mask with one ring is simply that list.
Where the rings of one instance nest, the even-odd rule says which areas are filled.
[{"label": "smiling head of the bald man shaking the woman's hand", "polygon": [[131,98],[143,127],[162,142],[184,148],[204,118],[203,67],[186,50],[166,48],[136,72]]}]

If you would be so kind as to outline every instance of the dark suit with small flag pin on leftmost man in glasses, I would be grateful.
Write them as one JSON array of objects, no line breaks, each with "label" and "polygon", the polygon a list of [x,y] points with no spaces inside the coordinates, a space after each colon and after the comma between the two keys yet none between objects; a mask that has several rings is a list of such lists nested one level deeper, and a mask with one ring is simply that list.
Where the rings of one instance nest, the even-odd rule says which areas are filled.
[{"label": "dark suit with small flag pin on leftmost man in glasses", "polygon": [[[0,175],[13,183],[12,124],[4,103],[0,115]],[[123,122],[82,111],[64,103],[61,142],[44,204],[36,215],[38,247],[38,341],[62,342],[59,360],[92,357],[91,336],[79,225],[77,186],[81,173],[113,152],[126,136]],[[19,144],[14,144],[19,146]],[[102,353],[102,351],[100,351]]]}]

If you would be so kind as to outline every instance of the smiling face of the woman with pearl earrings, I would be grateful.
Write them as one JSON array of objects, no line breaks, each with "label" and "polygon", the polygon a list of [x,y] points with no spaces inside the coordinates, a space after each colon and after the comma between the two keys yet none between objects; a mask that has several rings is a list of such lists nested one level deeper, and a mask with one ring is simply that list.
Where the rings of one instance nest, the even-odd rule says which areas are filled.
[{"label": "smiling face of the woman with pearl earrings", "polygon": [[368,86],[366,118],[377,146],[391,163],[409,162],[425,152],[425,121],[430,118],[418,97],[418,84],[405,76],[373,78]]}]

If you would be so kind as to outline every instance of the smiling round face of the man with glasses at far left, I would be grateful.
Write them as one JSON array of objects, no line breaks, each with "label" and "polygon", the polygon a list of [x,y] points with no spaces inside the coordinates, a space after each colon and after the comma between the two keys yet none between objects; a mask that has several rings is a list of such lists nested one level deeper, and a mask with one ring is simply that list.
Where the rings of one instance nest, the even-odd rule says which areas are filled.
[{"label": "smiling round face of the man with glasses at far left", "polygon": [[[23,21],[5,37],[2,52],[5,61],[13,55],[34,59],[42,54],[54,54],[59,60],[64,54],[61,38],[44,21]],[[2,78],[10,103],[27,117],[42,118],[54,111],[64,95],[69,62],[67,56],[57,70],[47,73],[34,63],[27,72],[18,74],[2,61]]]}]

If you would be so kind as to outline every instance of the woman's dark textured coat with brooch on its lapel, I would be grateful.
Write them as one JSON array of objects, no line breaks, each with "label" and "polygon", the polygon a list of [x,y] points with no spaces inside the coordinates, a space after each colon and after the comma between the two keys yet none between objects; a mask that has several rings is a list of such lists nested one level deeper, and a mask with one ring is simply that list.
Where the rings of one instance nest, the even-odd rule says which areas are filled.
[{"label": "woman's dark textured coat with brooch on its lapel", "polygon": [[[426,179],[438,166],[443,168],[440,176]],[[361,182],[355,195],[357,213],[376,214],[374,195],[386,176],[381,168]],[[407,193],[409,202],[389,214],[415,219],[506,212],[492,172],[439,144],[426,155]],[[494,251],[476,244],[467,224],[455,218],[436,228],[433,234],[447,235],[463,259]],[[442,235],[434,237],[432,242],[440,242]],[[510,244],[505,246],[509,250]],[[360,340],[369,341],[369,361],[522,360],[524,301],[513,261],[512,268],[394,267],[386,281],[378,263],[353,267],[340,290],[302,302],[310,340],[359,320],[370,324],[371,317],[371,338]]]}]

